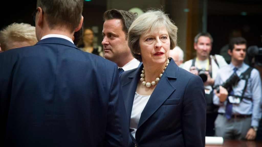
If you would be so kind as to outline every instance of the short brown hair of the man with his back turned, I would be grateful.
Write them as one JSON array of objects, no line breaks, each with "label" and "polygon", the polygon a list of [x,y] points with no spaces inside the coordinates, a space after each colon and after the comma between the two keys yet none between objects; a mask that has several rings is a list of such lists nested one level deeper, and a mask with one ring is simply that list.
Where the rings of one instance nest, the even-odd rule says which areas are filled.
[{"label": "short brown hair of the man with his back turned", "polygon": [[67,28],[73,32],[79,25],[83,0],[37,0],[51,30]]}]

